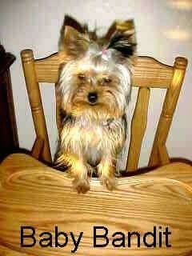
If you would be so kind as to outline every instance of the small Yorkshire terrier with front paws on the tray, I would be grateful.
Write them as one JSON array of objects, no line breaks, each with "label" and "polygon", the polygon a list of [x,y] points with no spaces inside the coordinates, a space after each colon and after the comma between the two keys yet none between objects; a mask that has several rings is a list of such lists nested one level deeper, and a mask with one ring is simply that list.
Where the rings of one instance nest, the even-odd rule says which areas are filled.
[{"label": "small Yorkshire terrier with front paws on the tray", "polygon": [[67,166],[78,193],[90,190],[98,174],[113,190],[118,155],[126,140],[125,111],[131,91],[131,34],[115,33],[106,46],[65,26],[59,47],[67,62],[61,68],[58,93],[65,113],[55,164]]}]

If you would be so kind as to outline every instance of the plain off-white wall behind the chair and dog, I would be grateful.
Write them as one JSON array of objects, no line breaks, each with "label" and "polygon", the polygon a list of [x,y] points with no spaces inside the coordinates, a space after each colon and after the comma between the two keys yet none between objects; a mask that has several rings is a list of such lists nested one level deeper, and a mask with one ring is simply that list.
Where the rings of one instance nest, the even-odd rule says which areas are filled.
[{"label": "plain off-white wall behind the chair and dog", "polygon": [[[58,48],[59,30],[64,14],[79,21],[95,24],[102,33],[114,19],[134,18],[138,54],[150,55],[159,61],[173,64],[178,55],[189,59],[186,80],[182,87],[174,122],[167,141],[172,157],[192,159],[192,1],[191,0],[9,0],[0,2],[0,40],[17,62],[11,68],[14,104],[20,146],[30,149],[35,134],[26,86],[22,74],[20,51],[34,50],[35,58],[43,58]],[[54,117],[54,87],[42,85],[43,105],[54,154],[57,129]],[[130,113],[134,108],[134,90]],[[163,90],[152,90],[146,136],[142,146],[140,166],[146,165],[162,106]],[[130,114],[131,115],[131,114]]]}]

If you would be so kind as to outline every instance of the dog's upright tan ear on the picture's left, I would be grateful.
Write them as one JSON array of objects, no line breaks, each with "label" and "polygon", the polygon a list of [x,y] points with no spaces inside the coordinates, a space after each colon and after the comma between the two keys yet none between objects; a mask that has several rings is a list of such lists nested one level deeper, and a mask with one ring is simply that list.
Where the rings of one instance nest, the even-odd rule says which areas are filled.
[{"label": "dog's upright tan ear on the picture's left", "polygon": [[82,58],[89,45],[90,40],[87,34],[82,34],[71,26],[65,26],[64,31],[61,31],[59,51],[62,51],[67,58]]}]

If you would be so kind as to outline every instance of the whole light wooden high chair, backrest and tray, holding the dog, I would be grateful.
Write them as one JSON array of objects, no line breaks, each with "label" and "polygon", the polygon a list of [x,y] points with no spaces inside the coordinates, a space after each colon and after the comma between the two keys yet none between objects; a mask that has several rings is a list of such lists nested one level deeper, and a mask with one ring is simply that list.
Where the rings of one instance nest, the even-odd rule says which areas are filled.
[{"label": "whole light wooden high chair, backrest and tray, holding the dog", "polygon": [[[30,106],[37,134],[33,156],[51,162],[46,122],[38,82],[58,81],[58,70],[63,62],[60,54],[34,60],[32,50],[22,51]],[[0,165],[0,255],[2,256],[70,256],[74,250],[72,238],[83,232],[77,256],[191,256],[192,253],[192,166],[170,163],[166,138],[178,101],[186,71],[186,58],[176,58],[174,66],[166,66],[154,58],[139,57],[134,69],[134,86],[139,86],[138,100],[131,124],[130,149],[126,169],[136,170],[146,129],[150,87],[166,89],[166,98],[149,166],[165,165],[151,172],[118,178],[112,192],[98,179],[90,180],[90,191],[77,194],[71,189],[66,173],[54,170],[26,154],[12,154]],[[57,98],[59,104],[59,98]],[[57,115],[58,117],[59,115]],[[59,129],[59,118],[58,129]],[[35,230],[36,244],[21,246],[21,226],[25,235]],[[42,232],[54,237],[55,227],[69,237],[66,246],[57,247],[54,238],[50,246],[39,245]],[[28,229],[26,228],[28,227]],[[97,235],[107,234],[109,244],[94,246],[94,228]],[[166,241],[163,232],[171,232]],[[156,233],[155,233],[156,229]],[[116,233],[115,233],[116,232]],[[128,232],[132,234],[130,244]],[[138,235],[135,234],[138,232]],[[150,232],[150,238],[145,235]],[[151,233],[155,233],[154,236]],[[121,240],[125,235],[125,246]],[[149,235],[149,233],[148,233]],[[161,238],[162,235],[162,238]],[[49,243],[48,233],[42,235]],[[114,244],[113,239],[116,239]],[[64,243],[62,237],[59,242]],[[162,240],[161,240],[162,239]],[[31,239],[23,244],[31,244]],[[141,243],[141,246],[139,244]],[[97,238],[96,244],[106,240]],[[120,244],[120,246],[119,246]]]}]

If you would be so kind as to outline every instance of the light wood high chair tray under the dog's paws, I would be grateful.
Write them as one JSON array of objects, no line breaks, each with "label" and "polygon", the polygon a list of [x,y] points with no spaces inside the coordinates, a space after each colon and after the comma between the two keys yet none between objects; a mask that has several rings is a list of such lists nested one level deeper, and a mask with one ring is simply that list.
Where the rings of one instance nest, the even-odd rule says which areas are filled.
[{"label": "light wood high chair tray under the dog's paws", "polygon": [[[77,194],[66,174],[44,166],[25,154],[10,155],[0,166],[0,255],[71,255],[63,248],[20,247],[20,226],[36,232],[73,231],[83,238],[76,255],[190,256],[192,254],[192,167],[184,163],[162,166],[153,172],[119,178],[109,192],[97,180],[90,192]],[[166,248],[93,248],[93,226],[141,234],[154,226],[172,232]]]}]

